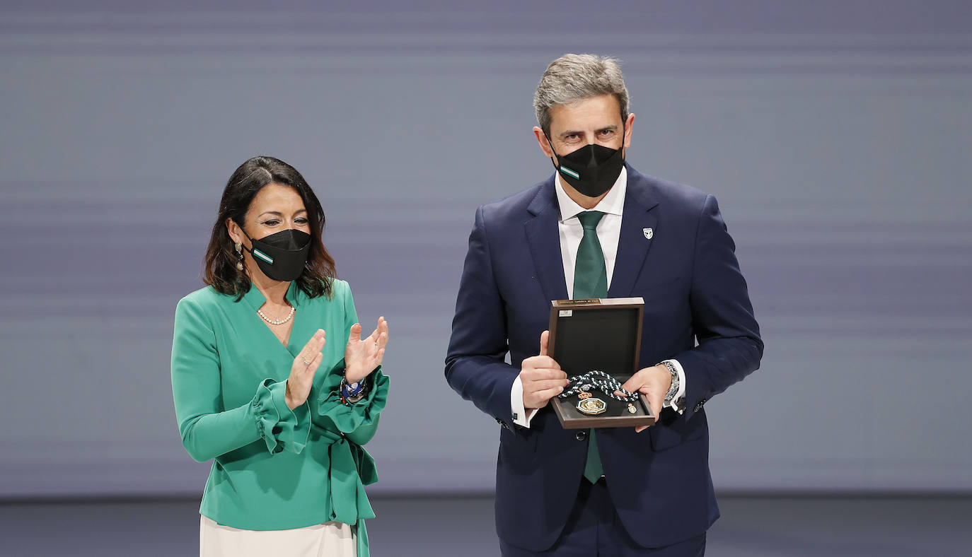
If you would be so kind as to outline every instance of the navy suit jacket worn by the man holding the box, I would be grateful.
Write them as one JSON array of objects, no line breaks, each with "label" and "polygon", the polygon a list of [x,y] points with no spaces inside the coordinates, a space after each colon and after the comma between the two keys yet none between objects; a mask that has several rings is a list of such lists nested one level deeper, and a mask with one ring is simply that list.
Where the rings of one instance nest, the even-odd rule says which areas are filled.
[{"label": "navy suit jacket worn by the man holding the box", "polygon": [[[759,367],[763,343],[715,198],[627,170],[608,296],[644,299],[641,365],[677,359],[686,410],[662,412],[641,434],[624,427],[597,436],[622,523],[635,541],[657,547],[697,536],[718,517],[703,405]],[[522,428],[512,425],[509,404],[521,362],[539,352],[550,301],[567,298],[553,180],[476,211],[445,363],[452,388],[502,426],[497,531],[533,551],[560,535],[587,451],[549,405]]]}]

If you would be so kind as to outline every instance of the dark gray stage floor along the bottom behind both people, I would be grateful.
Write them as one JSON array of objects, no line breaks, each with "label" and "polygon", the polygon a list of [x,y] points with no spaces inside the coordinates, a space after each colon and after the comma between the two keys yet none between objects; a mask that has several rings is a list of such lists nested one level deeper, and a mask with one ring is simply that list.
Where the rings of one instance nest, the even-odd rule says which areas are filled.
[{"label": "dark gray stage floor along the bottom behind both people", "polygon": [[[374,498],[377,557],[495,557],[486,497]],[[729,497],[708,557],[972,555],[972,497]],[[0,503],[0,555],[195,555],[198,503]]]}]

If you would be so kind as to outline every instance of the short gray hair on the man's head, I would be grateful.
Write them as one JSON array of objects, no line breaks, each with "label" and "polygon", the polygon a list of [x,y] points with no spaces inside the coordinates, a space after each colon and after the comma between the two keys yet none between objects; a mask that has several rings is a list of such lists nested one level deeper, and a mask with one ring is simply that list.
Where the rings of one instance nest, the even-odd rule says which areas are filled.
[{"label": "short gray hair on the man's head", "polygon": [[564,54],[547,66],[537,92],[534,110],[543,133],[550,133],[550,108],[569,105],[598,95],[614,95],[621,121],[628,119],[628,88],[617,60],[596,54]]}]

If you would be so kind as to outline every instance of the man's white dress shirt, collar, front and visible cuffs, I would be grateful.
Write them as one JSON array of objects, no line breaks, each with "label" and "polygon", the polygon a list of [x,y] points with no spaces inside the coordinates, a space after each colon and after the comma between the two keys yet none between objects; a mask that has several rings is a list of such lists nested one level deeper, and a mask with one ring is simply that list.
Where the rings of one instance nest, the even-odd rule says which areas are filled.
[{"label": "man's white dress shirt, collar, front and visible cuffs", "polygon": [[[577,248],[580,240],[584,237],[584,227],[580,224],[577,214],[588,211],[574,203],[573,199],[564,190],[563,180],[557,175],[554,181],[554,190],[557,192],[557,202],[560,205],[560,220],[557,228],[560,231],[560,254],[564,261],[564,279],[567,281],[567,297],[573,298],[573,265],[577,259]],[[598,241],[601,243],[601,250],[605,254],[605,269],[608,272],[608,288],[610,280],[614,276],[614,261],[617,259],[617,243],[621,237],[621,218],[624,213],[624,196],[628,190],[628,170],[621,168],[621,174],[614,180],[614,185],[608,190],[608,195],[598,202],[594,209],[590,211],[600,211],[604,213],[598,222],[597,233]],[[678,373],[678,392],[672,397],[672,402],[668,405],[672,409],[681,413],[684,409],[679,408],[676,401],[682,400],[685,395],[685,373],[681,369],[681,364],[677,360],[672,362]],[[529,412],[523,408],[523,382],[520,377],[513,381],[513,388],[509,393],[509,404],[513,410],[513,423],[530,427],[530,420],[538,409]]]}]

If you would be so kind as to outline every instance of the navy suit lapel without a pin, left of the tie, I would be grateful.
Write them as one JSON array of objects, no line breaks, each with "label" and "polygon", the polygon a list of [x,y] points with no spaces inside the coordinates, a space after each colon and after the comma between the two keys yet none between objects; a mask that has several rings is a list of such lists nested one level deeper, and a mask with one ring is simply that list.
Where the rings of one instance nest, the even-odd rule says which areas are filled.
[{"label": "navy suit lapel without a pin, left of the tie", "polygon": [[533,218],[523,223],[537,279],[548,300],[567,298],[564,260],[560,253],[560,231],[557,227],[560,208],[556,200],[553,179],[547,180],[527,207],[527,211],[534,215]]}]

